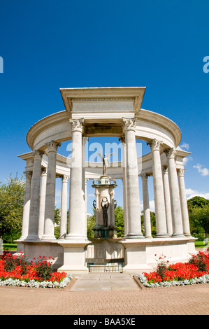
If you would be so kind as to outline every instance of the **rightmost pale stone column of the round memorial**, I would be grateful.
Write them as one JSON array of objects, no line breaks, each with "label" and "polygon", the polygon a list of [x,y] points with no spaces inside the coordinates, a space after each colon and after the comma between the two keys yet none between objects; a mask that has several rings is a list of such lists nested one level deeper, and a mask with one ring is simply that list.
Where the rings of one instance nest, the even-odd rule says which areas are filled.
[{"label": "rightmost pale stone column of the round memorial", "polygon": [[187,197],[185,189],[185,169],[177,169],[178,173],[178,182],[179,182],[179,193],[180,193],[180,205],[182,211],[182,224],[183,224],[183,233],[185,237],[191,237],[190,228],[189,228],[189,214],[187,209]]}]

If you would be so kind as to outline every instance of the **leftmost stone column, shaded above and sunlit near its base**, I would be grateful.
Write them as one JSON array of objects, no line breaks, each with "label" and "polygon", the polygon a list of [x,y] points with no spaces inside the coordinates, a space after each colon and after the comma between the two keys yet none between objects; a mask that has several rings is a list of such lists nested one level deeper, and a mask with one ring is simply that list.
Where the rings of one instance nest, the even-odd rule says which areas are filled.
[{"label": "leftmost stone column, shaded above and sunlit near its base", "polygon": [[22,235],[20,240],[27,238],[29,229],[29,213],[30,213],[30,202],[31,202],[31,177],[32,173],[27,171],[25,174],[25,189],[24,189],[24,206],[22,214]]}]

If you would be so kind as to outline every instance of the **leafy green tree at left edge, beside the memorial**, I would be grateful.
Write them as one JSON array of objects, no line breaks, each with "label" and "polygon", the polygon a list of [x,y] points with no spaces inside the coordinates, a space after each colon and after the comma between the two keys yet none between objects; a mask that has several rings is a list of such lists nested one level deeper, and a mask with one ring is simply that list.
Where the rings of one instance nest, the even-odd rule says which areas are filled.
[{"label": "leafy green tree at left edge, beside the memorial", "polygon": [[22,230],[25,181],[11,174],[7,183],[0,183],[0,237],[4,242],[13,243],[19,239]]}]

